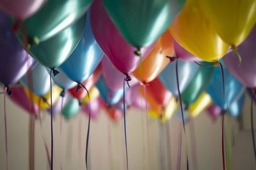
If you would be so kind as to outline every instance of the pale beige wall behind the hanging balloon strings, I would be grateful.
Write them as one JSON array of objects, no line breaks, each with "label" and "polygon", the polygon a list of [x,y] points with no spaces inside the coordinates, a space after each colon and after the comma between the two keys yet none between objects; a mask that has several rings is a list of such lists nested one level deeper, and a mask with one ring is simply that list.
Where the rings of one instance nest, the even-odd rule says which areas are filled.
[{"label": "pale beige wall behind the hanging balloon strings", "polygon": [[[250,133],[250,99],[246,99],[240,123],[230,119],[231,169],[256,169]],[[9,169],[29,169],[29,115],[9,99],[6,101],[8,114]],[[46,114],[44,112],[44,114]],[[255,116],[256,117],[256,116]],[[0,96],[0,169],[5,169],[4,152],[3,96]],[[79,120],[82,121],[81,145],[79,147]],[[227,120],[227,118],[226,118]],[[60,138],[60,117],[54,120],[54,167],[60,169],[60,155],[63,169],[85,169],[84,151],[88,118],[79,114],[72,120],[63,120],[63,134]],[[255,118],[256,124],[256,118]],[[50,146],[50,117],[44,117],[44,136]],[[129,169],[177,169],[177,150],[180,121],[172,119],[168,124],[149,120],[149,154],[147,152],[147,133],[145,112],[127,111],[127,139]],[[191,143],[191,124],[195,127],[196,144]],[[90,137],[91,169],[125,169],[125,149],[123,120],[111,122],[101,112],[92,121]],[[170,145],[166,143],[166,131],[170,134]],[[38,121],[35,125],[35,169],[49,169],[45,155],[42,132]],[[185,143],[182,138],[182,167],[185,164]],[[190,169],[221,169],[221,120],[212,121],[207,113],[201,113],[187,125],[188,153]],[[67,146],[68,143],[68,146]],[[170,147],[168,147],[170,146]],[[195,152],[196,146],[196,152]],[[60,151],[61,148],[61,151]],[[195,163],[197,157],[197,167]]]}]

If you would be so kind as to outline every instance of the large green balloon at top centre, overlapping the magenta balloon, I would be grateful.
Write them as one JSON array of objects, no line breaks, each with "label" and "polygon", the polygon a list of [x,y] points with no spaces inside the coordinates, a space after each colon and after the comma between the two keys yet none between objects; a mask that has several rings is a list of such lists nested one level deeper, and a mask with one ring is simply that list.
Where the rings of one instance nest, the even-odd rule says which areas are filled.
[{"label": "large green balloon at top centre, overlapping the magenta balloon", "polygon": [[172,24],[186,0],[103,0],[109,17],[137,48],[151,45]]}]

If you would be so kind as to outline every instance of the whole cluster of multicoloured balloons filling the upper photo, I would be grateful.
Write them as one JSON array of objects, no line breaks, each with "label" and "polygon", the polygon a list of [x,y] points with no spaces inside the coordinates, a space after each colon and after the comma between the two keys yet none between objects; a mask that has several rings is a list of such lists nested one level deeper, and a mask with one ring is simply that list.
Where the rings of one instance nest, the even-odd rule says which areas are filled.
[{"label": "whole cluster of multicoloured balloons filling the upper photo", "polygon": [[118,120],[124,99],[166,121],[180,117],[180,91],[187,120],[236,117],[246,87],[255,96],[253,0],[0,0],[0,10],[0,81],[31,114],[52,103],[65,118],[104,108]]}]

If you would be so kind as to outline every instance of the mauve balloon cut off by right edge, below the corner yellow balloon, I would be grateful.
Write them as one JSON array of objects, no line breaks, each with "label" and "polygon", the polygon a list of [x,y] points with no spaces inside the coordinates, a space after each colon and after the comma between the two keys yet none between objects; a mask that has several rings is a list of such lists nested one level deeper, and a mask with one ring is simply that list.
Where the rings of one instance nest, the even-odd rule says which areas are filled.
[{"label": "mauve balloon cut off by right edge, below the corner yellow balloon", "polygon": [[256,87],[256,27],[246,40],[238,46],[237,50],[243,57],[242,62],[236,57],[234,52],[228,53],[223,61],[225,65],[241,83],[247,87]]}]

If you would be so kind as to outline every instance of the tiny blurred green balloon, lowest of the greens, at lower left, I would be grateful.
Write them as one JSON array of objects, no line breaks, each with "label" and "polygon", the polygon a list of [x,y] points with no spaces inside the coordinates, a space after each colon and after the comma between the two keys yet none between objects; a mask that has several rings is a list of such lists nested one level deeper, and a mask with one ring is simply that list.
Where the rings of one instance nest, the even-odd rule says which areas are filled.
[{"label": "tiny blurred green balloon, lowest of the greens, at lower left", "polygon": [[72,97],[70,101],[64,106],[61,114],[65,118],[72,118],[77,115],[79,110],[79,101]]}]

